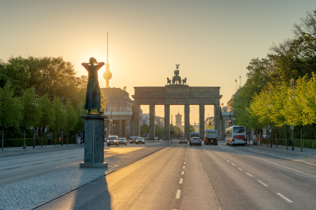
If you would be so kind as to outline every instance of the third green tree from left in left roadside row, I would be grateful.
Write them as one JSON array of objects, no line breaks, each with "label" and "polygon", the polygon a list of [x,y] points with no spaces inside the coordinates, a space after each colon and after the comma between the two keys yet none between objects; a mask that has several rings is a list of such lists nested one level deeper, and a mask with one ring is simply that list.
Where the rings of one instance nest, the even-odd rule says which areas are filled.
[{"label": "third green tree from left in left roadside row", "polygon": [[48,98],[48,94],[44,94],[39,98],[39,106],[41,107],[41,117],[39,120],[39,128],[41,132],[41,147],[43,147],[43,134],[47,127],[52,126],[55,120],[55,110],[53,103]]}]

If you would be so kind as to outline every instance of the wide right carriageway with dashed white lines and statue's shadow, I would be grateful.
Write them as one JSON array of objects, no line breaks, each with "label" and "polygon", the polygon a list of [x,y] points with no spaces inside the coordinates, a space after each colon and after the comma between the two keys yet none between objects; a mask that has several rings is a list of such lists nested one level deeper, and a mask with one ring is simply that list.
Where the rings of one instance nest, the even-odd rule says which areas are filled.
[{"label": "wide right carriageway with dashed white lines and statue's shadow", "polygon": [[38,209],[315,209],[316,167],[173,144]]}]

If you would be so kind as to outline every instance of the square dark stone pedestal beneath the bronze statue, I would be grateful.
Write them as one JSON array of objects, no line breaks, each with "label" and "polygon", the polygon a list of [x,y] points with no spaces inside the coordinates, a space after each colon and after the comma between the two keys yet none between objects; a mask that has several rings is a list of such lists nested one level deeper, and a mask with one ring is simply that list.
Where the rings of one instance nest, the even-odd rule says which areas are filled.
[{"label": "square dark stone pedestal beneath the bronze statue", "polygon": [[100,113],[88,113],[84,118],[84,162],[81,168],[107,168],[104,162],[104,119]]}]

